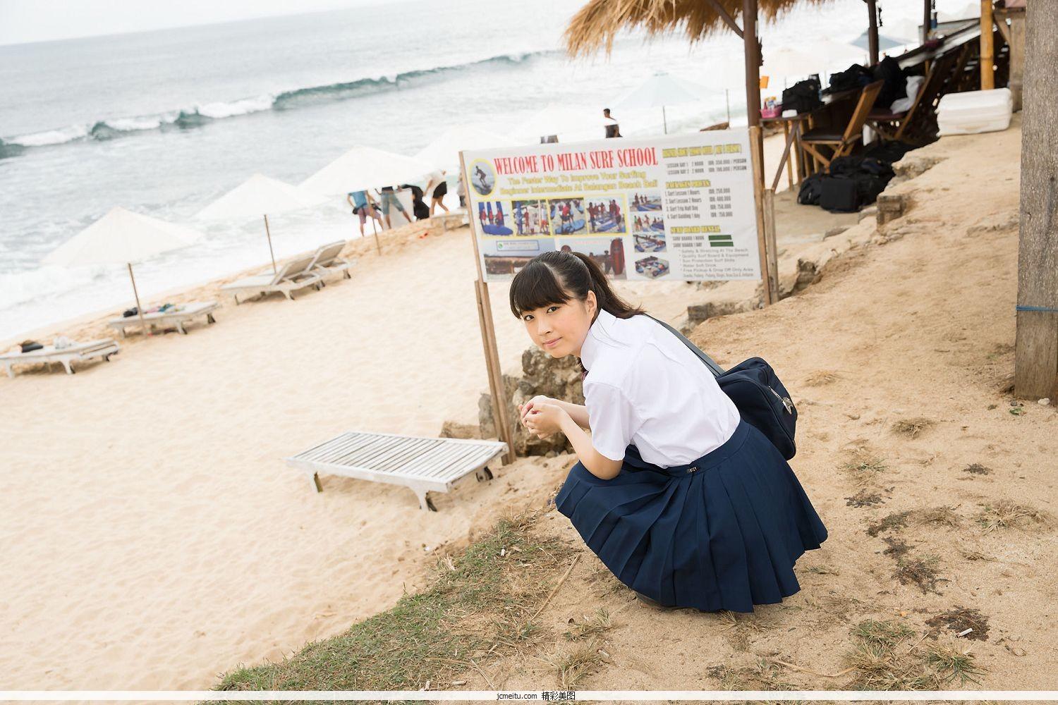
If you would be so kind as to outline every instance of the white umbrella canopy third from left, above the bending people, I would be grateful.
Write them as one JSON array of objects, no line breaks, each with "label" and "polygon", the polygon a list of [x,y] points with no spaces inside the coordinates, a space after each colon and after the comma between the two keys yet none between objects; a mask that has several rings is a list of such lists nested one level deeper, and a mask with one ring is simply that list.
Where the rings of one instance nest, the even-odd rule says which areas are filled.
[{"label": "white umbrella canopy third from left, above the bending people", "polygon": [[353,147],[320,171],[302,182],[302,188],[333,194],[363,191],[418,181],[434,170],[434,165],[373,147]]}]

